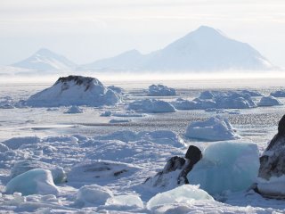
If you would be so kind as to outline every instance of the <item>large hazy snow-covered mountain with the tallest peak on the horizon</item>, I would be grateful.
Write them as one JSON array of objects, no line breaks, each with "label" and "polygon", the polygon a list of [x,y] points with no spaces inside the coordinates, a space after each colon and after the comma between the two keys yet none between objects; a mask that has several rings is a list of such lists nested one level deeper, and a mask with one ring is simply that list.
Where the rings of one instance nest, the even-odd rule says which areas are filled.
[{"label": "large hazy snow-covered mountain with the tallest peak on the horizon", "polygon": [[226,37],[218,29],[201,26],[165,48],[138,51],[81,66],[84,70],[270,70],[275,68],[252,46]]}]

